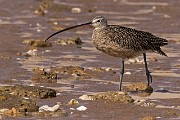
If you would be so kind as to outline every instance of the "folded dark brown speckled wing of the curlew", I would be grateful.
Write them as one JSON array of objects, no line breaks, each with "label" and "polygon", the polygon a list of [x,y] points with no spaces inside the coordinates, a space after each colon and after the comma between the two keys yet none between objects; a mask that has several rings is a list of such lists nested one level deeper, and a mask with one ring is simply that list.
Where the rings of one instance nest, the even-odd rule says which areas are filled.
[{"label": "folded dark brown speckled wing of the curlew", "polygon": [[155,43],[157,37],[149,32],[139,31],[132,28],[122,26],[112,26],[112,40],[117,42],[124,49],[134,51],[152,50],[156,51]]}]

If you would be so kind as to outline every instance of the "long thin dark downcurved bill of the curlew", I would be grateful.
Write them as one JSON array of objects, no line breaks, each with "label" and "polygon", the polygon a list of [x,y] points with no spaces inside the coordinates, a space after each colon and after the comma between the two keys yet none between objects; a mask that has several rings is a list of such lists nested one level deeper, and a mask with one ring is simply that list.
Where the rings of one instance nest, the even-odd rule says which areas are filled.
[{"label": "long thin dark downcurved bill of the curlew", "polygon": [[50,35],[49,37],[46,38],[45,42],[49,40],[49,38],[53,37],[54,35],[56,34],[59,34],[61,32],[64,32],[66,30],[70,30],[70,29],[73,29],[73,28],[76,28],[76,27],[80,27],[80,26],[83,26],[83,25],[88,25],[88,24],[92,24],[92,22],[87,22],[87,23],[83,23],[83,24],[80,24],[80,25],[75,25],[75,26],[72,26],[72,27],[68,27],[68,28],[65,28],[63,30],[60,30],[60,31],[57,31],[55,33],[53,33],[52,35]]}]

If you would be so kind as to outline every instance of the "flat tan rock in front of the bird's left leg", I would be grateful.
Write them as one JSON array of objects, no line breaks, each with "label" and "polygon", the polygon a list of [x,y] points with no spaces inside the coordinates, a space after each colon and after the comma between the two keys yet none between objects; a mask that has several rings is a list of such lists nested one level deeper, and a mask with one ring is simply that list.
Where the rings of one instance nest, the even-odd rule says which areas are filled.
[{"label": "flat tan rock in front of the bird's left leg", "polygon": [[120,103],[132,103],[134,102],[134,99],[132,99],[131,96],[129,96],[128,94],[124,93],[124,92],[112,92],[112,91],[108,91],[108,92],[102,92],[102,93],[98,93],[95,95],[90,95],[90,97],[93,100],[107,100],[107,101],[112,101],[112,102],[120,102]]}]

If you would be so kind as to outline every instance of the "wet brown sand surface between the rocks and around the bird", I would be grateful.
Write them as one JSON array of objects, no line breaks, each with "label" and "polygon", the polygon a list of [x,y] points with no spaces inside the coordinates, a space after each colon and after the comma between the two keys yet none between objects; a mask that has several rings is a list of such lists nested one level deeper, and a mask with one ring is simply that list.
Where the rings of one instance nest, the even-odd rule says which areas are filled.
[{"label": "wet brown sand surface between the rocks and around the bird", "polygon": [[[45,8],[44,14],[34,12],[39,10],[41,2],[40,0],[0,1],[0,84],[1,86],[23,84],[53,88],[58,91],[59,95],[51,99],[37,100],[37,104],[53,106],[61,102],[63,104],[61,108],[68,115],[60,118],[56,116],[12,116],[12,118],[138,120],[152,116],[158,120],[180,119],[180,1],[73,0],[69,2],[55,0],[52,5]],[[81,8],[80,13],[72,12],[72,8],[76,7]],[[56,31],[53,28],[66,28],[81,24],[97,15],[105,16],[109,24],[146,30],[169,41],[169,44],[162,48],[168,57],[155,53],[149,53],[147,56],[148,66],[153,76],[151,86],[154,92],[148,97],[130,94],[135,100],[145,99],[145,104],[78,99],[83,94],[118,91],[119,58],[105,55],[93,47],[92,27],[85,26],[57,35],[50,40],[52,47],[32,48],[23,43],[26,39],[45,39]],[[59,38],[74,36],[79,36],[83,44],[61,46],[56,42]],[[24,56],[24,53],[30,49],[37,49],[37,55]],[[142,60],[142,57],[139,59]],[[84,79],[58,74],[56,83],[32,80],[34,68],[51,69],[58,66],[81,66],[88,69],[92,67],[111,68],[116,73],[102,72],[98,76]],[[143,64],[127,63],[125,72],[131,74],[124,76],[123,86],[146,82]],[[66,105],[71,99],[77,99],[80,104]],[[155,107],[148,106],[148,103],[155,104]],[[86,106],[87,110],[70,109],[76,109],[81,105]]]}]

